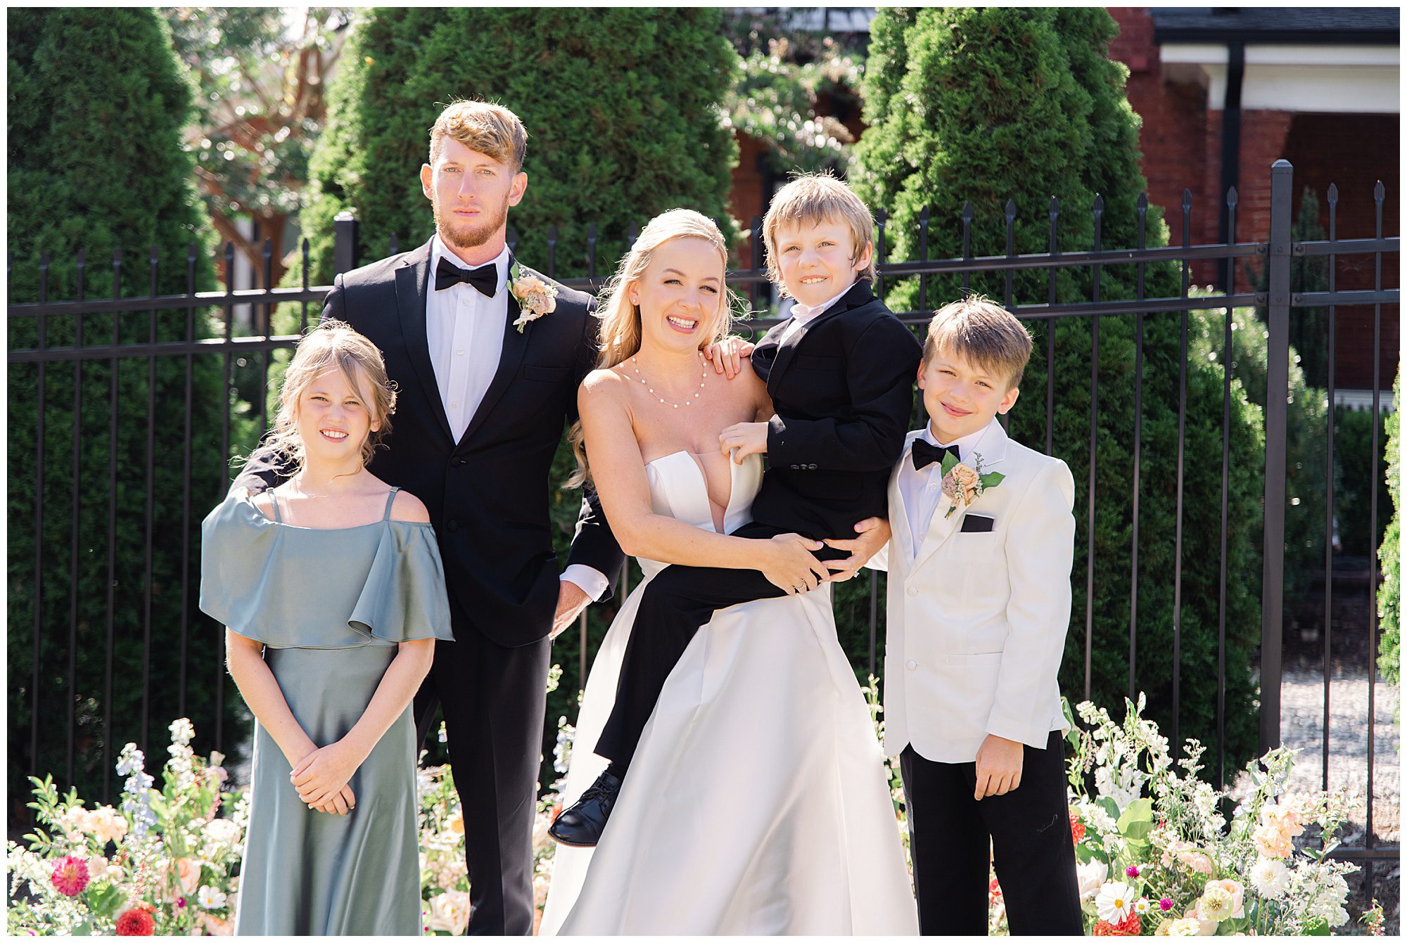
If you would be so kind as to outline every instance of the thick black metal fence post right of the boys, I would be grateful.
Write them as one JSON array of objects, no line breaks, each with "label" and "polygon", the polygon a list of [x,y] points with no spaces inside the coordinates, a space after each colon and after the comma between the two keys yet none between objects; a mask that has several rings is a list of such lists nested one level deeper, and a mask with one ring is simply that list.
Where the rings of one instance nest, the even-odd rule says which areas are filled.
[{"label": "thick black metal fence post right of the boys", "polygon": [[1294,167],[1271,165],[1266,252],[1265,563],[1261,580],[1261,752],[1280,746],[1280,639],[1285,608],[1285,419],[1290,388],[1290,198]]}]

